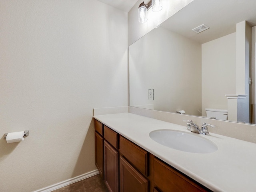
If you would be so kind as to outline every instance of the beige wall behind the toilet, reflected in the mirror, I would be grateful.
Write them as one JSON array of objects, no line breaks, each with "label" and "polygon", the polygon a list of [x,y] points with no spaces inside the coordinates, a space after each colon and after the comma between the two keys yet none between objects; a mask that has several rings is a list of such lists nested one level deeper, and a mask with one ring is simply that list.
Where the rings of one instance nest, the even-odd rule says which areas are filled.
[{"label": "beige wall behind the toilet, reflected in the mirror", "polygon": [[236,94],[236,33],[202,44],[202,116],[205,108],[227,110],[225,94]]}]

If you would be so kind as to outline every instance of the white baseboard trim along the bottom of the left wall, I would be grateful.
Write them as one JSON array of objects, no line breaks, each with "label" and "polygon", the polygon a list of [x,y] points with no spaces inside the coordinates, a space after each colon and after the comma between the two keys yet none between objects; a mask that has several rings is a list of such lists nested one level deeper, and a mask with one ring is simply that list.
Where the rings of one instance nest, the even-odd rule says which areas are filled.
[{"label": "white baseboard trim along the bottom of the left wall", "polygon": [[65,180],[65,181],[56,183],[56,184],[54,184],[54,185],[51,185],[51,186],[48,186],[48,187],[45,187],[45,188],[36,190],[36,191],[34,191],[34,192],[50,192],[50,191],[53,191],[53,190],[62,188],[62,187],[64,187],[64,186],[70,185],[70,184],[72,184],[72,183],[78,182],[78,181],[80,181],[80,180],[89,178],[89,177],[94,176],[94,175],[97,175],[97,174],[99,174],[99,171],[98,171],[98,170],[94,170],[94,171],[91,171],[91,172],[88,172],[88,173],[85,173],[85,174],[76,176],[76,177],[74,177],[74,178],[71,178],[71,179],[68,179],[68,180]]}]

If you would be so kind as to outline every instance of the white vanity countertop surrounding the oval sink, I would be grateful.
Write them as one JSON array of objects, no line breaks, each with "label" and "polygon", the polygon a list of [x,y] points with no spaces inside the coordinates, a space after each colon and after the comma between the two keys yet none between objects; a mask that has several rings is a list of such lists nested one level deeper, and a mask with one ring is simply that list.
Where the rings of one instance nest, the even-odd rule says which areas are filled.
[{"label": "white vanity countertop surrounding the oval sink", "polygon": [[195,133],[214,142],[218,150],[207,154],[183,152],[158,144],[149,137],[149,133],[161,129],[190,132],[186,126],[131,113],[98,115],[94,118],[210,190],[256,191],[255,143],[213,133]]}]

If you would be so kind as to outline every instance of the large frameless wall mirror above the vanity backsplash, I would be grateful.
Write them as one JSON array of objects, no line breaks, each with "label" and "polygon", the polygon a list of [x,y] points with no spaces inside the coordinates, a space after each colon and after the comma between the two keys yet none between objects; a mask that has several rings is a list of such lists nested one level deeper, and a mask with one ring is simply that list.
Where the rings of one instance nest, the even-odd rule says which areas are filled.
[{"label": "large frameless wall mirror above the vanity backsplash", "polygon": [[[243,70],[236,64],[239,23],[246,23],[251,32],[250,48],[243,48],[248,52]],[[202,24],[210,28],[192,31]],[[206,108],[229,108],[227,116],[231,116],[226,95],[244,94],[248,102],[242,114],[250,117],[237,121],[254,123],[253,26],[254,0],[191,2],[129,46],[130,106],[203,117]],[[241,93],[240,76],[246,84]]]}]

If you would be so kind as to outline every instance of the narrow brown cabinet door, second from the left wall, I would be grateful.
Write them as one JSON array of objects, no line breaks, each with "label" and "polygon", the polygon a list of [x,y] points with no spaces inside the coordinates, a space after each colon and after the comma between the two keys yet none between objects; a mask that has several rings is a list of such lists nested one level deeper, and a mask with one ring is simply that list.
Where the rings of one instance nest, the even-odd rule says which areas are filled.
[{"label": "narrow brown cabinet door, second from the left wall", "polygon": [[104,141],[105,183],[110,192],[118,192],[118,152]]}]

